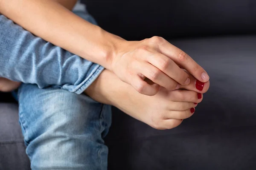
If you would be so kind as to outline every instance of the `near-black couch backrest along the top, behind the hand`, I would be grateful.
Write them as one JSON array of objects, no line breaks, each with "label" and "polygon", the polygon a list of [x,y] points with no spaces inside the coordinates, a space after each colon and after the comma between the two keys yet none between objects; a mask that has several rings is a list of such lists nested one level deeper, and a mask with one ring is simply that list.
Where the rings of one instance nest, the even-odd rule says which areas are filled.
[{"label": "near-black couch backrest along the top, behind the hand", "polygon": [[81,0],[99,26],[126,40],[255,34],[255,0]]}]

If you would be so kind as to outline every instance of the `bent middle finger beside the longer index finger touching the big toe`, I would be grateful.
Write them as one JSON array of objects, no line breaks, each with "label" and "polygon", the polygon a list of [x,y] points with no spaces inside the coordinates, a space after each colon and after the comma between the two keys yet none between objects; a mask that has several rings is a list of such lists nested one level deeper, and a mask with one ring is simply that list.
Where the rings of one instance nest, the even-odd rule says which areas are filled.
[{"label": "bent middle finger beside the longer index finger touching the big toe", "polygon": [[161,53],[153,53],[148,55],[147,61],[165,73],[167,76],[174,79],[181,85],[188,85],[190,82],[189,75],[183,71],[175,62],[169,57]]}]

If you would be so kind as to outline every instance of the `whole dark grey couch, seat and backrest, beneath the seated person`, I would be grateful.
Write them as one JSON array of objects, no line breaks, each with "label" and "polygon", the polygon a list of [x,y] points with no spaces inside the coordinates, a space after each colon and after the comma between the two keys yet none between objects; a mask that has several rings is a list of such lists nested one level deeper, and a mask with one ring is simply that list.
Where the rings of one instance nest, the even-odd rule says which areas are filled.
[{"label": "whole dark grey couch, seat and backrest, beneath the seated person", "polygon": [[[170,10],[176,10],[178,14],[182,9],[189,9],[181,3],[191,5],[190,1],[183,1],[175,4],[179,8],[170,7]],[[206,9],[211,9],[214,15],[219,14],[216,15],[219,17],[217,19],[225,18],[226,22],[223,23],[225,28],[222,30],[221,28],[216,31],[209,30],[209,25],[217,27],[214,21],[218,20],[211,15],[204,15],[207,21],[204,21],[202,16],[198,19],[197,10],[189,11],[195,17],[184,14],[186,10],[183,10],[181,16],[184,20],[194,20],[196,23],[194,26],[198,26],[199,30],[205,28],[204,33],[212,37],[199,37],[199,32],[188,30],[193,38],[171,40],[175,37],[170,31],[171,26],[166,25],[170,27],[168,31],[172,32],[168,34],[167,28],[163,29],[163,23],[159,26],[160,30],[154,30],[154,25],[150,32],[150,34],[163,34],[163,37],[169,38],[172,44],[186,51],[207,70],[210,75],[210,88],[204,95],[203,102],[198,105],[195,114],[184,120],[179,127],[163,131],[154,130],[113,108],[113,124],[105,139],[109,147],[110,170],[253,170],[256,168],[256,36],[254,35],[256,32],[253,32],[256,31],[256,15],[252,11],[255,3],[250,0],[232,2],[227,0],[222,5],[221,1],[214,2],[207,5],[201,1],[199,4],[206,6],[204,12],[207,13]],[[99,24],[108,31],[111,31],[111,27],[105,21],[105,17],[113,18],[114,21],[122,17],[119,15],[113,17],[115,12],[119,12],[110,10],[114,8],[113,3],[108,4],[109,15],[105,13],[104,16],[100,15],[99,11],[107,11],[105,3],[93,4],[92,1],[88,1],[87,4],[87,8],[94,13]],[[117,9],[119,5],[120,3],[116,4]],[[167,5],[170,4],[162,6],[166,8]],[[140,3],[137,6],[140,6]],[[148,6],[150,8],[153,4]],[[236,16],[230,15],[229,11],[232,13],[232,9],[238,6],[241,7],[238,12],[245,8],[248,12],[243,16],[239,13]],[[163,10],[159,11],[164,13]],[[165,14],[168,15],[168,12],[166,11]],[[227,15],[221,15],[223,12]],[[156,11],[153,13],[157,15]],[[135,34],[133,31],[136,30],[136,24],[142,24],[137,22],[140,19],[136,16],[131,14],[130,17],[134,18],[134,27],[130,24],[130,28],[126,29],[131,31],[132,36]],[[211,19],[212,23],[210,23]],[[150,22],[154,21],[158,22],[154,18]],[[202,23],[206,23],[205,26]],[[243,23],[246,28],[241,28],[240,24]],[[123,21],[116,24],[125,29],[127,23]],[[145,21],[145,25],[147,24],[148,22]],[[181,31],[184,31],[183,29]],[[227,31],[228,29],[232,34]],[[250,30],[250,34],[241,35],[244,30]],[[111,32],[119,34],[118,31],[120,30],[114,27]],[[150,36],[147,32],[149,33],[145,31],[142,32],[143,35],[136,34],[134,37],[129,37],[126,31],[122,36],[127,39],[140,39]],[[180,33],[178,30],[176,32]],[[220,33],[225,36],[220,36]],[[0,94],[1,101],[5,102],[0,103],[0,170],[29,170],[29,160],[18,124],[17,103],[9,97],[9,94]]]}]

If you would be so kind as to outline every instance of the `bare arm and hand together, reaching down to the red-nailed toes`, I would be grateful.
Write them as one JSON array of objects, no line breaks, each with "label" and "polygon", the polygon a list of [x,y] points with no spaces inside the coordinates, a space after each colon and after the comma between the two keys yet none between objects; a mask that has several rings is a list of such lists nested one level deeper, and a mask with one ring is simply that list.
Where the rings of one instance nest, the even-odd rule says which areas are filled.
[{"label": "bare arm and hand together, reaching down to the red-nailed toes", "polygon": [[[75,2],[0,0],[0,13],[38,37],[102,65],[141,94],[152,96],[160,87],[173,90],[189,84],[189,75],[180,67],[201,82],[209,80],[188,54],[162,37],[126,41],[73,14]],[[145,83],[145,78],[154,83]]]}]

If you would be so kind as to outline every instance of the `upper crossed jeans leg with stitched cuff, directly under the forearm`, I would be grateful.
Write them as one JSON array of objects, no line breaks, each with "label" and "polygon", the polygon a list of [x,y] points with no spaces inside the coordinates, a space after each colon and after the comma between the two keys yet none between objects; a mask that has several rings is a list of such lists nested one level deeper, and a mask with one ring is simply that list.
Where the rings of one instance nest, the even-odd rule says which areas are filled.
[{"label": "upper crossed jeans leg with stitched cuff, directly under the forearm", "polygon": [[0,77],[40,88],[58,85],[80,94],[103,69],[0,15]]}]

